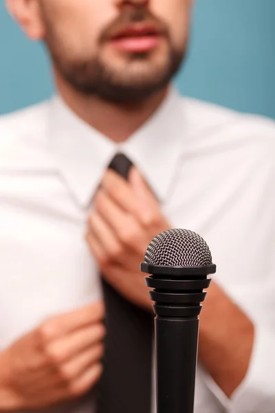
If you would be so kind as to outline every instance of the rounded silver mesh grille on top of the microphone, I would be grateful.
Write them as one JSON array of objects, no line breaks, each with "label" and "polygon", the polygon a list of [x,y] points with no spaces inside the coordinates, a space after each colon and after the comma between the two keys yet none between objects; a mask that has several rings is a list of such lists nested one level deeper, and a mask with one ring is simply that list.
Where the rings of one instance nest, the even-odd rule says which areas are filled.
[{"label": "rounded silver mesh grille on top of the microphone", "polygon": [[149,244],[144,261],[162,266],[208,266],[212,255],[208,244],[197,233],[170,229]]}]

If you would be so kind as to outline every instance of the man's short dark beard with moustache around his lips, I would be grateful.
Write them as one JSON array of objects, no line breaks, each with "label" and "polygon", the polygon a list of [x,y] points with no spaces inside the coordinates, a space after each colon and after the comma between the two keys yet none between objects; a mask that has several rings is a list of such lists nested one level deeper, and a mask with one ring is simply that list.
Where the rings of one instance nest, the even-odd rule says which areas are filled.
[{"label": "man's short dark beard with moustache around his lips", "polygon": [[166,47],[162,53],[127,53],[120,63],[106,59],[103,53],[85,59],[74,58],[65,52],[61,36],[54,30],[54,24],[43,12],[47,49],[55,70],[77,92],[87,96],[98,96],[115,103],[138,103],[162,90],[179,70],[186,54],[186,47],[173,46],[168,29],[145,7],[124,8],[120,17],[106,28],[98,40],[99,50],[112,35],[131,23],[153,23],[164,39]]}]

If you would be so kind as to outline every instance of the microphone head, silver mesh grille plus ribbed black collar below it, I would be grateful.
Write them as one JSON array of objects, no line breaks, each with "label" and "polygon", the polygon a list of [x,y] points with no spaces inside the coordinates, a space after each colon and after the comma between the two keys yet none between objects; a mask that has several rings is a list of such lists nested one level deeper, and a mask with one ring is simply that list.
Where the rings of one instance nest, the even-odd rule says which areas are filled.
[{"label": "microphone head, silver mesh grille plus ribbed black collar below it", "polygon": [[205,240],[187,229],[169,229],[149,244],[140,264],[159,317],[198,317],[210,274],[216,273]]}]

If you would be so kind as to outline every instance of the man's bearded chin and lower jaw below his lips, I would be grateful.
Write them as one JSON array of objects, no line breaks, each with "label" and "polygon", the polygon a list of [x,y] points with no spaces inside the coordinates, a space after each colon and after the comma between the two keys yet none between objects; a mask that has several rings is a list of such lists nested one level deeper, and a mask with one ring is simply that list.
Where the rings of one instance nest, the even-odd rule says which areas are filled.
[{"label": "man's bearded chin and lower jaw below his lips", "polygon": [[114,103],[139,103],[164,89],[181,65],[181,52],[158,50],[125,56],[103,47],[98,59],[79,65],[57,62],[63,77],[78,92]]}]

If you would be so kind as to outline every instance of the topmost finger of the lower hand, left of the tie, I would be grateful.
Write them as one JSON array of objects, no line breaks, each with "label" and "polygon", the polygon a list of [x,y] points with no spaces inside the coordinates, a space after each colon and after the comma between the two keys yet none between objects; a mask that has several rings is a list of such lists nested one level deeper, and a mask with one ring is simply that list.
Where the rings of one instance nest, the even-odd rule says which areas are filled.
[{"label": "topmost finger of the lower hand, left of the tie", "polygon": [[105,328],[102,324],[84,328],[50,343],[47,347],[47,355],[56,364],[64,363],[76,357],[76,354],[80,354],[83,350],[100,344],[104,335]]}]

